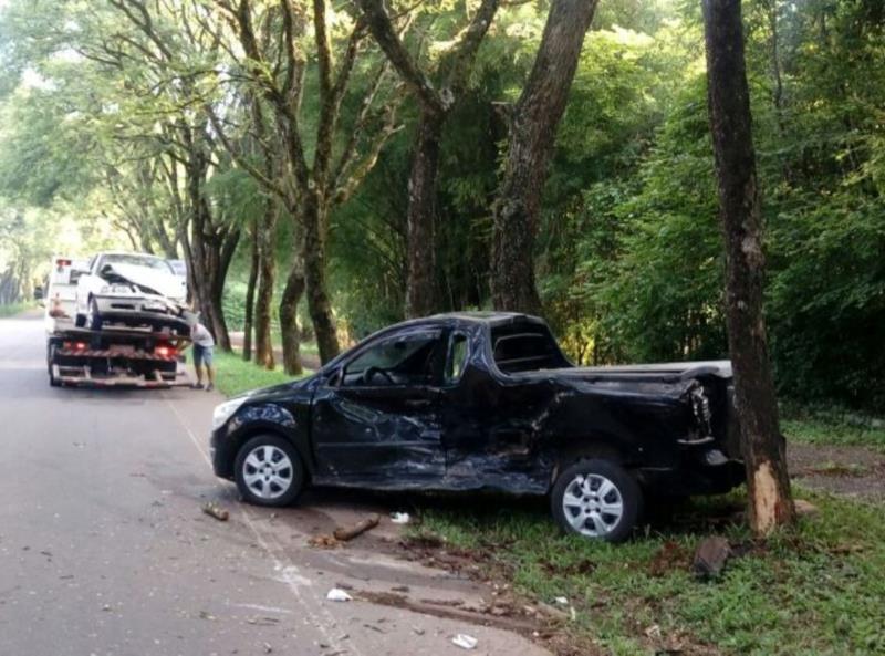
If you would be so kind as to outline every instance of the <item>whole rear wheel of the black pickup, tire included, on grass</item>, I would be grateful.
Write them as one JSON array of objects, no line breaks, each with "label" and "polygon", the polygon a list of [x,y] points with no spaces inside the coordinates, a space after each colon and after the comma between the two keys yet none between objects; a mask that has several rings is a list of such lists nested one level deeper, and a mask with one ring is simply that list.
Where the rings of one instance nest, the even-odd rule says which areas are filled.
[{"label": "whole rear wheel of the black pickup, tire included, on grass", "polygon": [[639,521],[643,494],[636,480],[621,466],[592,459],[581,460],[559,476],[550,503],[564,531],[592,540],[623,542]]}]

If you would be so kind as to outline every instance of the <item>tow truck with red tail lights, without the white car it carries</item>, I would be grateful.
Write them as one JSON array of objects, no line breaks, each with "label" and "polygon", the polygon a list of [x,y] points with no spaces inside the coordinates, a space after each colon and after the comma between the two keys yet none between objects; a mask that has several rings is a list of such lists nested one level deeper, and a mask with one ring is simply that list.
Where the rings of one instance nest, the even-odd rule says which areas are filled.
[{"label": "tow truck with red tail lights, without the white car it carries", "polygon": [[93,387],[189,385],[184,350],[190,340],[164,326],[76,325],[76,283],[85,261],[59,256],[45,284],[49,384]]}]

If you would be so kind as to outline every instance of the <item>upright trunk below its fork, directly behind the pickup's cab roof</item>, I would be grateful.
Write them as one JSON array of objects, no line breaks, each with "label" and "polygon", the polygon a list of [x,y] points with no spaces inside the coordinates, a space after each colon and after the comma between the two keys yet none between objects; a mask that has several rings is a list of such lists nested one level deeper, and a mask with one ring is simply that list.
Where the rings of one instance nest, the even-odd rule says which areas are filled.
[{"label": "upright trunk below its fork, directly behind the pickup's cab roof", "polygon": [[408,179],[408,278],[406,316],[426,316],[437,310],[436,178],[445,114],[421,110]]}]

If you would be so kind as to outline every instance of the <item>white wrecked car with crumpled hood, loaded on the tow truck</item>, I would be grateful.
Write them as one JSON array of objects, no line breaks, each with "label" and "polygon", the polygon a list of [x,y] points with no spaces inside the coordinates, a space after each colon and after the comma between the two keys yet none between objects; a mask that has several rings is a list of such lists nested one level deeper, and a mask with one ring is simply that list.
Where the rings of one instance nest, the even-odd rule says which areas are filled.
[{"label": "white wrecked car with crumpled hood, loaded on the tow truck", "polygon": [[188,331],[187,283],[168,261],[148,253],[102,252],[76,281],[77,327],[105,324]]}]

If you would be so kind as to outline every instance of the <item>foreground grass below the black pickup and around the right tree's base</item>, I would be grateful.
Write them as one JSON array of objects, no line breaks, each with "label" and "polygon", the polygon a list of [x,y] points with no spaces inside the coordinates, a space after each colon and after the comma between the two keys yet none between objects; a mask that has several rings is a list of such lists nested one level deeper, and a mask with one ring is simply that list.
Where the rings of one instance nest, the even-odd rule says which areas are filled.
[{"label": "foreground grass below the black pickup and around the right tree's base", "polygon": [[[530,600],[568,597],[576,611],[564,627],[571,642],[592,642],[605,654],[654,654],[660,645],[645,634],[654,625],[665,638],[729,655],[885,654],[885,508],[802,496],[820,514],[803,518],[795,535],[753,546],[745,528],[722,529],[732,544],[750,549],[709,583],[688,571],[709,534],[700,527],[612,546],[561,535],[543,509],[510,503],[425,509],[413,531],[479,550],[487,575]],[[736,501],[743,500],[727,499]],[[704,517],[722,502],[691,508]]]}]

